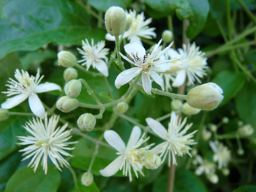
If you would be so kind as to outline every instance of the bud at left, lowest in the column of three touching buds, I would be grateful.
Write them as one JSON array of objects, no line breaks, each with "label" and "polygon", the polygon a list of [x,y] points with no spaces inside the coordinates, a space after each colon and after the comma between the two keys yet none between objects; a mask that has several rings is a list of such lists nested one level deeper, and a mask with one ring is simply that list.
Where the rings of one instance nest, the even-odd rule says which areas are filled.
[{"label": "bud at left, lowest in the column of three touching buds", "polygon": [[75,110],[79,106],[79,100],[76,98],[71,98],[69,96],[63,96],[59,98],[56,104],[57,108],[64,113],[69,113],[72,110]]}]

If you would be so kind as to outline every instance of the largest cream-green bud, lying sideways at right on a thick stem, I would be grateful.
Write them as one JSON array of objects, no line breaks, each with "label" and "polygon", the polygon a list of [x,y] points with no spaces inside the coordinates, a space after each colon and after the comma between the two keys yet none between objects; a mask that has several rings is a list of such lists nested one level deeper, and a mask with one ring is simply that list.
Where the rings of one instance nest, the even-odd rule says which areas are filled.
[{"label": "largest cream-green bud, lying sideways at right on a thick stem", "polygon": [[214,83],[207,83],[191,89],[187,93],[187,103],[194,108],[213,110],[223,100],[222,89]]}]

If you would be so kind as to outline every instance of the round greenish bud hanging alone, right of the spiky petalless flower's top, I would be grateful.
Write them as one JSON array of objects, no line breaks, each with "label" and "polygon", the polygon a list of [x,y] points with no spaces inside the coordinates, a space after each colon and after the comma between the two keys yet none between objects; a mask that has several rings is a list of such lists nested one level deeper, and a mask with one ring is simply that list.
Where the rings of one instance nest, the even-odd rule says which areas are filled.
[{"label": "round greenish bud hanging alone, right of the spiky petalless flower's top", "polygon": [[96,119],[94,115],[90,113],[84,113],[77,119],[77,125],[80,129],[87,131],[92,131],[96,125]]}]

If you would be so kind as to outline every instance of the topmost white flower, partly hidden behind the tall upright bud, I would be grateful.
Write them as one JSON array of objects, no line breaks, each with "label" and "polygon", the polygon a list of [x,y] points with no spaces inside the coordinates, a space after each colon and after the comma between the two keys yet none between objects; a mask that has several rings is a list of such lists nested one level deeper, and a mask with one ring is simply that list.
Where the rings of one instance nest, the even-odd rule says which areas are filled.
[{"label": "topmost white flower, partly hidden behind the tall upright bud", "polygon": [[[148,38],[152,39],[152,37],[156,38],[156,33],[154,30],[156,28],[149,28],[148,25],[152,22],[152,18],[145,20],[144,13],[136,14],[136,11],[126,11],[127,15],[131,15],[132,23],[131,27],[127,32],[123,34],[123,38],[128,38],[130,42],[137,42],[142,45],[140,38]],[[111,36],[110,34],[106,34],[106,40],[115,40],[115,36]]]}]

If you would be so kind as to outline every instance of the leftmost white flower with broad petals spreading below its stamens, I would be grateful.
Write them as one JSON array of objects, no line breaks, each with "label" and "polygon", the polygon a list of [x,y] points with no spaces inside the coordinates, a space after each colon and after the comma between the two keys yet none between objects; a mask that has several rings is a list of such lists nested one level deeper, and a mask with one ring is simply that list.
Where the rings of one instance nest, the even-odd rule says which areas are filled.
[{"label": "leftmost white flower with broad petals spreading below its stamens", "polygon": [[22,73],[20,73],[19,69],[16,69],[14,77],[18,80],[18,82],[9,78],[10,81],[7,81],[9,85],[5,85],[9,87],[7,89],[8,91],[2,93],[7,94],[7,96],[16,96],[8,98],[5,102],[3,102],[3,104],[1,104],[1,108],[13,108],[28,98],[28,103],[32,113],[43,119],[45,110],[37,94],[42,92],[50,92],[53,90],[59,90],[61,92],[61,87],[57,84],[49,82],[38,85],[44,77],[44,75],[40,77],[39,69],[36,73],[36,77],[33,75],[30,76],[27,71],[22,70]]}]

